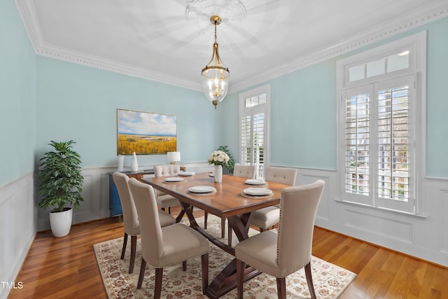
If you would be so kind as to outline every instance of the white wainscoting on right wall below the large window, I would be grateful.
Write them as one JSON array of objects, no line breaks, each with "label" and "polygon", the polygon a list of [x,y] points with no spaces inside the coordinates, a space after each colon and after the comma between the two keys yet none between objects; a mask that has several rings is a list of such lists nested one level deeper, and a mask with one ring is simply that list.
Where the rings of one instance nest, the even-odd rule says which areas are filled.
[{"label": "white wainscoting on right wall below the large window", "polygon": [[296,185],[316,179],[325,181],[316,225],[448,267],[448,179],[425,179],[421,215],[341,202],[337,172],[297,167]]}]

